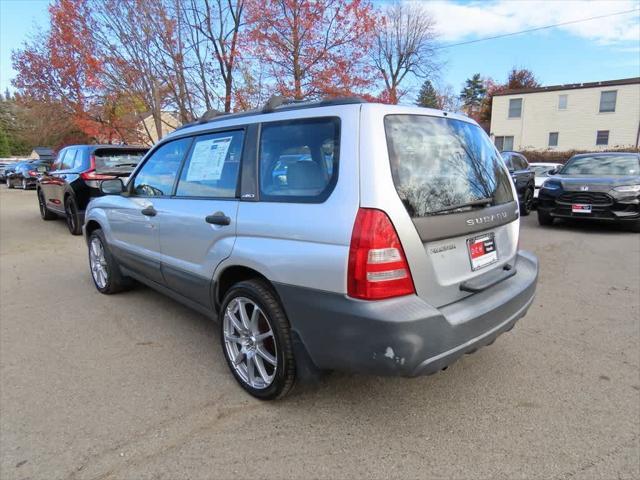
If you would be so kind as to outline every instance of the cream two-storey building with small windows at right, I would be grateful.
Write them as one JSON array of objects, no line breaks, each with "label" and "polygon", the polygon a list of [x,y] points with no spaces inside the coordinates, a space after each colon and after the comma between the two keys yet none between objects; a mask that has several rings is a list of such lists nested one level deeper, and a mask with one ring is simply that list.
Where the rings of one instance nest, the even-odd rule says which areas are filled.
[{"label": "cream two-storey building with small windows at right", "polygon": [[640,77],[510,90],[493,97],[499,150],[638,147]]}]

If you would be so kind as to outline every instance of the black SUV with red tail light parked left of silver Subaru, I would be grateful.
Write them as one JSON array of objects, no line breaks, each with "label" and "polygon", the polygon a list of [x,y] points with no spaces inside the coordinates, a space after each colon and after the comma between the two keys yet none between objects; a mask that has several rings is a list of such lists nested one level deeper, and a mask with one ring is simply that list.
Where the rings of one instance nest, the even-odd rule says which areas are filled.
[{"label": "black SUV with red tail light parked left of silver Subaru", "polygon": [[58,153],[51,170],[38,181],[43,220],[66,218],[73,235],[82,233],[84,210],[101,195],[100,182],[128,177],[149,149],[119,145],[72,145]]}]

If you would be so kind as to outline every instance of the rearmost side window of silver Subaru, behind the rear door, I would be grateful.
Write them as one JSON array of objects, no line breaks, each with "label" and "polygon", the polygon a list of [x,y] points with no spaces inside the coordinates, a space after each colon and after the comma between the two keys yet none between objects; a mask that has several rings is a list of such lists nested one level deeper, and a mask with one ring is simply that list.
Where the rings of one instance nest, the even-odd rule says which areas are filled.
[{"label": "rearmost side window of silver Subaru, behind the rear door", "polygon": [[262,125],[260,198],[322,202],[338,175],[340,120],[314,118]]}]

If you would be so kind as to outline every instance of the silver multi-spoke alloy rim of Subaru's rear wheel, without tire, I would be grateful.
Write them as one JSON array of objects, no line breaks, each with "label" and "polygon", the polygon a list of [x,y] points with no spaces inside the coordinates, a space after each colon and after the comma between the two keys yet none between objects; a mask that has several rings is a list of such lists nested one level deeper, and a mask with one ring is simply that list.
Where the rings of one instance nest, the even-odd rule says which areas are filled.
[{"label": "silver multi-spoke alloy rim of Subaru's rear wheel, without tire", "polygon": [[227,357],[236,374],[252,388],[267,388],[275,378],[278,351],[266,314],[252,300],[236,297],[222,322]]}]

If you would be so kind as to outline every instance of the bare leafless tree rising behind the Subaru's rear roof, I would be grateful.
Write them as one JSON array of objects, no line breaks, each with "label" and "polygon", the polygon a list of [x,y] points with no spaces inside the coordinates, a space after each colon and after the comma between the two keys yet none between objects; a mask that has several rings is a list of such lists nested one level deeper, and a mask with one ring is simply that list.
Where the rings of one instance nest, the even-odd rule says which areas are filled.
[{"label": "bare leafless tree rising behind the Subaru's rear roof", "polygon": [[409,75],[426,78],[437,72],[435,40],[435,20],[420,5],[397,2],[387,7],[371,57],[389,103],[398,103],[404,93],[400,86]]}]

